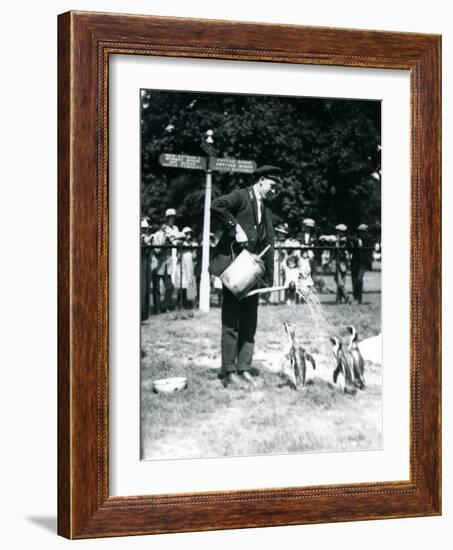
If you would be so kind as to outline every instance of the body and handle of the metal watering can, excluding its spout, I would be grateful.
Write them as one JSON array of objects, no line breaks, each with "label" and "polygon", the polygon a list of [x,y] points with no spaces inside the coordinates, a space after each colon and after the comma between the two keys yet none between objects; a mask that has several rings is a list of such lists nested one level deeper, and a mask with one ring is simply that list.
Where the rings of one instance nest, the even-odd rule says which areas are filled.
[{"label": "body and handle of the metal watering can, excluding its spout", "polygon": [[233,261],[220,275],[220,280],[238,300],[242,300],[264,275],[265,267],[261,258],[269,248],[270,245],[267,245],[258,255],[243,248],[240,254],[234,257],[233,245],[231,245]]}]

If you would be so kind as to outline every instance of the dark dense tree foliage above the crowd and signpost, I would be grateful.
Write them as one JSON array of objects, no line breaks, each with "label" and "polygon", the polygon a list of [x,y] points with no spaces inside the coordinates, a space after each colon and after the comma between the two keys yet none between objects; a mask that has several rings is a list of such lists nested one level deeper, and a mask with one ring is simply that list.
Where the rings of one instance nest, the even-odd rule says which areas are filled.
[{"label": "dark dense tree foliage above the crowd and signpost", "polygon": [[[309,216],[324,232],[340,222],[379,231],[380,113],[380,102],[367,100],[143,90],[142,213],[160,222],[173,207],[180,227],[201,232],[204,172],[162,167],[159,155],[205,156],[212,129],[216,156],[283,169],[276,223],[297,233]],[[213,196],[252,183],[250,174],[214,172]]]}]

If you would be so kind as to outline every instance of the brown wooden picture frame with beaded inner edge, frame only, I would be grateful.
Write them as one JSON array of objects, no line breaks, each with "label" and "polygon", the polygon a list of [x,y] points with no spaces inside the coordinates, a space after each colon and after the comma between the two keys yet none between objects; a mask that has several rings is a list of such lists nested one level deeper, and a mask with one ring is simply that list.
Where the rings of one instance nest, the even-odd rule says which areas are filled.
[{"label": "brown wooden picture frame with beaded inner edge, frame only", "polygon": [[[58,21],[58,533],[68,538],[441,513],[441,39],[69,12]],[[111,54],[410,71],[410,480],[109,495]]]}]

